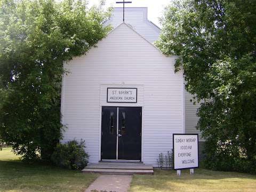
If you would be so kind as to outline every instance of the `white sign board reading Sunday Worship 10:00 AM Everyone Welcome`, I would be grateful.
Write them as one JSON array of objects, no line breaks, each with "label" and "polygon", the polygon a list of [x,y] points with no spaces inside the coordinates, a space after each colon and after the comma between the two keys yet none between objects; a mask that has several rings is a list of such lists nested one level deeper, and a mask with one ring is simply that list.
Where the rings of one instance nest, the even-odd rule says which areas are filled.
[{"label": "white sign board reading Sunday Worship 10:00 AM Everyone Welcome", "polygon": [[174,170],[198,165],[198,134],[173,134]]}]

